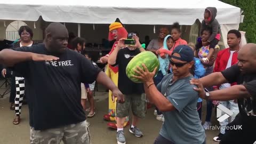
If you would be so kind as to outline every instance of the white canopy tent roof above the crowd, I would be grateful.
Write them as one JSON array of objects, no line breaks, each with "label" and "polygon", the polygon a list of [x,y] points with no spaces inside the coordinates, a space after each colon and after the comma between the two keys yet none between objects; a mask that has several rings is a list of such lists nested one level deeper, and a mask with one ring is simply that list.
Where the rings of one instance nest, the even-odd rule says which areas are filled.
[{"label": "white canopy tent roof above the crowd", "polygon": [[220,24],[240,23],[240,8],[218,0],[1,0],[0,20],[37,21],[42,16],[51,22],[111,23],[119,18],[124,24],[193,25],[209,6],[217,7]]}]

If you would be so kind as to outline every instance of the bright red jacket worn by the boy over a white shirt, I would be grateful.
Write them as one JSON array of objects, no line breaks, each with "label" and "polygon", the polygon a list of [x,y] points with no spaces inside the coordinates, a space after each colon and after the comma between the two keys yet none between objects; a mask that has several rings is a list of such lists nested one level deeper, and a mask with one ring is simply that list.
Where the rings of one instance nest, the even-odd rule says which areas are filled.
[{"label": "bright red jacket worn by the boy over a white shirt", "polygon": [[[237,60],[238,51],[239,50],[233,53],[231,66],[235,65],[238,62]],[[229,56],[230,56],[230,48],[219,51],[217,58],[215,60],[215,66],[214,66],[213,72],[220,72],[225,70],[228,65]],[[232,83],[231,85],[236,85],[236,83]],[[213,86],[213,88],[218,88],[218,86]]]}]

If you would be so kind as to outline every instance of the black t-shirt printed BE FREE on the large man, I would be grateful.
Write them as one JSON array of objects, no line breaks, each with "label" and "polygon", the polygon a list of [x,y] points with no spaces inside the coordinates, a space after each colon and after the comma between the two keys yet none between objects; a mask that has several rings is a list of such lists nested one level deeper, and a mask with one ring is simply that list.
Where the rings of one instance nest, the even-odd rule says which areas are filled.
[{"label": "black t-shirt printed BE FREE on the large man", "polygon": [[[44,44],[15,50],[53,55]],[[81,83],[93,83],[101,71],[82,54],[70,49],[55,56],[60,59],[49,62],[26,61],[13,67],[26,78],[29,121],[35,130],[85,121]]]}]

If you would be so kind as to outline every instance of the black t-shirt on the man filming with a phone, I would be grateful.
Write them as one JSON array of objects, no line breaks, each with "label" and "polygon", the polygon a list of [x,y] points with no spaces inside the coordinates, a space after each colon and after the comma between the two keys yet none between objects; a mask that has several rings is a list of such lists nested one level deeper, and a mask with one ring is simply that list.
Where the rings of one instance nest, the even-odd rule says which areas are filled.
[{"label": "black t-shirt on the man filming with a phone", "polygon": [[116,63],[113,66],[118,65],[118,89],[123,94],[142,94],[144,93],[144,88],[142,83],[132,82],[126,75],[126,66],[130,60],[139,54],[140,50],[135,49],[130,51],[127,47],[119,50],[116,57]]}]

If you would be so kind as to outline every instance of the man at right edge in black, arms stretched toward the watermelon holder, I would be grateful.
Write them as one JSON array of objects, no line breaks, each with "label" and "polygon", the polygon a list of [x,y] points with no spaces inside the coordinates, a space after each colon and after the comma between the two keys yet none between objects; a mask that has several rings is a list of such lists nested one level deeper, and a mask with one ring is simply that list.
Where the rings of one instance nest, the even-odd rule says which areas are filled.
[{"label": "man at right edge in black, arms stretched toward the watermelon holder", "polygon": [[[191,84],[200,97],[206,100],[238,99],[239,114],[226,127],[221,144],[253,143],[256,141],[256,44],[246,44],[238,52],[238,63],[224,71],[213,73],[200,79],[191,79]],[[204,87],[234,83],[227,89],[205,92]]]}]

